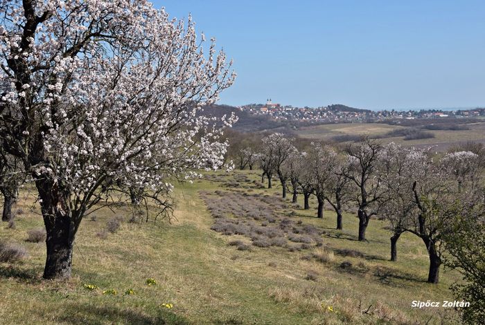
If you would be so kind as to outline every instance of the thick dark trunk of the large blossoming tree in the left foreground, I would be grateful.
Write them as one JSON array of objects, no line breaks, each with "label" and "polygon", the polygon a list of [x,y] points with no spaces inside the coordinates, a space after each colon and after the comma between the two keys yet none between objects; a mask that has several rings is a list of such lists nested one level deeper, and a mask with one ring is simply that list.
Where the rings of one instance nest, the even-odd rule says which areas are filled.
[{"label": "thick dark trunk of the large blossoming tree in the left foreground", "polygon": [[69,192],[62,191],[50,175],[38,175],[36,178],[47,233],[47,257],[43,277],[44,279],[69,279],[74,239],[78,229],[78,225],[74,222],[76,219],[69,209]]}]

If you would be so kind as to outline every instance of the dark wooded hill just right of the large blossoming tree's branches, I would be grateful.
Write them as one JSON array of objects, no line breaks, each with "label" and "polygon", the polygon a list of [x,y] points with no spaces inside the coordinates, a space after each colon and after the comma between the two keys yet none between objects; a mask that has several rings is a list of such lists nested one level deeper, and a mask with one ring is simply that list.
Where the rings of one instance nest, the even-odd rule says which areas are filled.
[{"label": "dark wooded hill just right of the large blossoming tree's branches", "polygon": [[239,120],[233,125],[233,129],[242,132],[254,132],[263,131],[267,129],[276,129],[279,127],[285,127],[288,122],[278,122],[272,120],[269,116],[265,115],[251,115],[247,111],[241,111],[237,107],[229,105],[210,105],[204,107],[204,115],[215,116],[217,118],[222,115],[231,115],[235,113]]}]

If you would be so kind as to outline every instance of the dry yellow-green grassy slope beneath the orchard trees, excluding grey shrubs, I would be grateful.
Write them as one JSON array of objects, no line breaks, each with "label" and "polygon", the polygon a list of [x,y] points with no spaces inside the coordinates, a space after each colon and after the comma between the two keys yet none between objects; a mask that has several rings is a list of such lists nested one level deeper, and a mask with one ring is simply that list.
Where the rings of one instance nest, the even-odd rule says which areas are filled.
[{"label": "dry yellow-green grassy slope beneath the orchard trees, excluding grey shrubs", "polygon": [[[385,223],[371,221],[369,243],[361,243],[355,240],[358,219],[352,214],[345,214],[344,231],[337,231],[332,212],[318,220],[315,210],[281,203],[279,187],[261,188],[256,172],[210,174],[178,187],[173,223],[125,221],[103,239],[97,234],[107,220],[127,220],[129,208],[100,210],[95,221],[87,217],[76,238],[68,283],[41,279],[44,244],[25,239],[42,220],[38,207],[30,210],[33,193],[21,194],[17,228],[2,225],[0,239],[24,245],[28,258],[0,263],[2,324],[442,324],[443,319],[452,324],[457,316],[443,308],[411,307],[413,300],[452,299],[448,286],[457,279],[445,270],[441,284],[425,282],[427,253],[421,241],[402,236],[398,262],[388,261]],[[206,203],[229,194],[265,198],[247,202],[259,207],[256,212],[273,211],[275,224],[289,219],[321,230],[322,245],[260,248],[247,236],[211,230],[215,219]],[[221,209],[235,219],[240,213],[231,213],[231,206]],[[228,245],[234,240],[249,250]],[[145,284],[148,278],[157,285]],[[84,284],[100,289],[90,291]],[[107,289],[117,295],[103,295]],[[129,289],[135,294],[124,295]]]}]

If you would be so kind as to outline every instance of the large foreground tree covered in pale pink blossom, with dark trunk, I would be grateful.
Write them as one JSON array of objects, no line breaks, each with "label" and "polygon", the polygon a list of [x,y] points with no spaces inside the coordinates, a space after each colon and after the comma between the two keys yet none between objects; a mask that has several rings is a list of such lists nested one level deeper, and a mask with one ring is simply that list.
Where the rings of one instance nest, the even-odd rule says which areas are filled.
[{"label": "large foreground tree covered in pale pink blossom, with dark trunk", "polygon": [[197,114],[233,82],[191,18],[145,0],[8,1],[0,7],[3,150],[35,181],[44,278],[69,278],[83,216],[144,188],[170,210],[169,180],[218,169],[233,118]]}]

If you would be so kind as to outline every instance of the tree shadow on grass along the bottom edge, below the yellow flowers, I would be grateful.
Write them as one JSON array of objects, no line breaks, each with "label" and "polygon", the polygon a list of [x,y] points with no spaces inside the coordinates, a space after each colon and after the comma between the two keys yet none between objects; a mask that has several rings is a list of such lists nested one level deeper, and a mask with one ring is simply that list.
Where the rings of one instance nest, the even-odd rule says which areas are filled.
[{"label": "tree shadow on grass along the bottom edge, below the yellow flowers", "polygon": [[95,304],[63,304],[64,313],[56,320],[67,324],[191,324],[170,310],[160,309],[157,315],[145,315],[138,310]]}]

